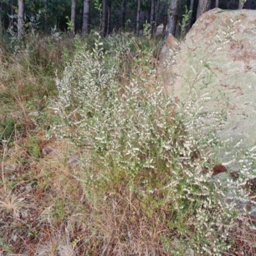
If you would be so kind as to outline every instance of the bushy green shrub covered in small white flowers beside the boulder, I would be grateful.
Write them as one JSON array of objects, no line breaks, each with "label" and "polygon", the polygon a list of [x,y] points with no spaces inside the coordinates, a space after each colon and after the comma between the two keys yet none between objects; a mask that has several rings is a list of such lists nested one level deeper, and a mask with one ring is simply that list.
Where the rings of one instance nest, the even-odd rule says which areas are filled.
[{"label": "bushy green shrub covered in small white flowers beside the boulder", "polygon": [[[242,214],[234,195],[230,204],[223,200],[227,186],[212,180],[212,149],[219,145],[214,134],[223,113],[198,111],[207,95],[191,97],[177,112],[175,100],[164,99],[163,88],[156,83],[154,90],[146,89],[143,77],[136,79],[132,71],[129,83],[120,83],[120,61],[132,44],[134,38],[125,35],[99,38],[93,51],[77,52],[56,82],[59,95],[52,108],[61,118],[56,131],[84,152],[83,172],[76,175],[93,205],[88,212],[92,239],[103,248],[108,236],[116,255],[137,255],[141,244],[150,255],[185,255],[189,248],[221,255]],[[140,67],[145,60],[135,61],[154,81],[150,62]],[[204,118],[215,120],[206,132]],[[234,189],[239,198],[248,200],[243,182],[228,186],[239,188]],[[147,237],[143,243],[141,232]]]}]

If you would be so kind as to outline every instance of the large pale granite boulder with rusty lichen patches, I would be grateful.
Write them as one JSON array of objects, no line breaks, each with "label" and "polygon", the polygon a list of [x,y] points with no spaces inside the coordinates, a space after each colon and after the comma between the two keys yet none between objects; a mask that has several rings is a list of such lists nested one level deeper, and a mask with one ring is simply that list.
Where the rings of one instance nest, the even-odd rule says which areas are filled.
[{"label": "large pale granite boulder with rusty lichen patches", "polygon": [[[204,13],[177,51],[170,51],[164,60],[160,60],[161,73],[168,95],[176,97],[180,106],[191,97],[207,98],[201,101],[202,111],[227,110],[218,136],[229,140],[228,147],[255,145],[255,10],[216,8]],[[222,153],[223,161],[228,161],[228,154]]]}]

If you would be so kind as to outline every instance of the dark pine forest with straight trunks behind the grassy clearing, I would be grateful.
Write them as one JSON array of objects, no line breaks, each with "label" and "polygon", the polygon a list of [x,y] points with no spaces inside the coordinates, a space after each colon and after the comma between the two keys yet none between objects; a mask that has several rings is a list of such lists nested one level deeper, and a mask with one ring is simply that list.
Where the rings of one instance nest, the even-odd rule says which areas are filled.
[{"label": "dark pine forest with straight trunks behind the grassy clearing", "polygon": [[[186,13],[186,31],[198,17],[212,8],[224,10],[256,8],[255,0],[1,0],[0,35],[12,30],[21,36],[24,29],[49,33],[56,27],[60,31],[70,29],[73,33],[90,33],[101,29],[109,35],[113,29],[126,29],[140,35],[143,24],[150,24],[152,35],[160,24],[166,35],[180,33],[180,24]],[[16,24],[16,26],[15,26]]]}]

